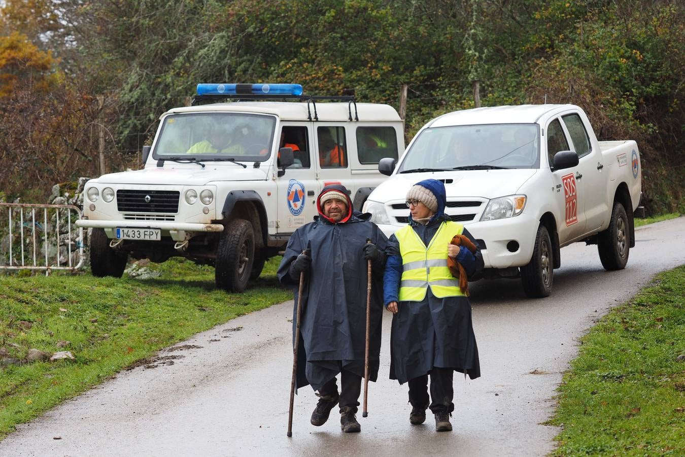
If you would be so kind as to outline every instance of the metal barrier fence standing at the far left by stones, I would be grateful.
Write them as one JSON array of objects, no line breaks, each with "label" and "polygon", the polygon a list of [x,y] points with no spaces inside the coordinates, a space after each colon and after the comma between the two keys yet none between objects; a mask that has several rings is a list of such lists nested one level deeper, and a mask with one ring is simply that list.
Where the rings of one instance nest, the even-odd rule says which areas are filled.
[{"label": "metal barrier fence standing at the far left by stones", "polygon": [[[72,205],[0,203],[0,270],[75,271],[83,267],[84,231]],[[76,230],[73,230],[76,229]]]}]

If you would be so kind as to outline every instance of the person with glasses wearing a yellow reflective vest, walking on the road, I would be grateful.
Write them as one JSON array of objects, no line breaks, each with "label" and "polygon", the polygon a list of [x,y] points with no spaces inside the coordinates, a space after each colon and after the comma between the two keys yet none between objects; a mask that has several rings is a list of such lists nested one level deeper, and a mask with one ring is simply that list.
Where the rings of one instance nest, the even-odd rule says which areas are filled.
[{"label": "person with glasses wearing a yellow reflective vest, walking on the road", "polygon": [[[436,430],[447,432],[454,371],[480,376],[466,280],[483,260],[471,234],[445,215],[442,182],[415,184],[406,203],[410,223],[390,236],[386,250],[384,302],[394,314],[390,379],[409,383],[410,423],[423,423],[430,408]],[[460,271],[464,277],[455,277]]]}]

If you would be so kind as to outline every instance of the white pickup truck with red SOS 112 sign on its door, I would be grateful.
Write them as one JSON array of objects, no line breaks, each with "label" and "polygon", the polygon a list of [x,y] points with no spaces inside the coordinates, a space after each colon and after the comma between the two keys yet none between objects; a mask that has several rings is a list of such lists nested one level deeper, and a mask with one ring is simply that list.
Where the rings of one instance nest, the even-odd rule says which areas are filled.
[{"label": "white pickup truck with red SOS 112 sign on its door", "polygon": [[[633,140],[598,141],[573,105],[476,108],[444,114],[419,130],[391,175],[364,205],[388,236],[408,222],[407,190],[445,183],[446,214],[477,238],[486,277],[521,277],[530,297],[551,293],[560,248],[597,244],[607,270],[634,246],[641,167]],[[475,278],[477,279],[477,278]]]}]

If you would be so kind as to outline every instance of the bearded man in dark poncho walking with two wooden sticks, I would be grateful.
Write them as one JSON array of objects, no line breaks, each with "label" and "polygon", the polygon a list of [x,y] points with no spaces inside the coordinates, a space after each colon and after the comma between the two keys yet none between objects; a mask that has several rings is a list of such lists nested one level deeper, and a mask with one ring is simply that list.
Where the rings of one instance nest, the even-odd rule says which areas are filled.
[{"label": "bearded man in dark poncho walking with two wooden sticks", "polygon": [[[278,279],[295,289],[293,343],[300,338],[297,387],[319,391],[312,425],[323,425],[339,404],[343,432],[359,432],[356,420],[366,347],[367,260],[372,264],[369,380],[379,366],[383,273],[387,238],[369,221],[353,214],[347,188],[326,186],[316,199],[319,215],[290,236]],[[371,240],[367,243],[367,240]],[[308,253],[303,253],[307,249]],[[300,274],[306,284],[297,297]],[[297,299],[301,299],[300,334],[295,334]],[[340,373],[338,393],[336,375]]]}]

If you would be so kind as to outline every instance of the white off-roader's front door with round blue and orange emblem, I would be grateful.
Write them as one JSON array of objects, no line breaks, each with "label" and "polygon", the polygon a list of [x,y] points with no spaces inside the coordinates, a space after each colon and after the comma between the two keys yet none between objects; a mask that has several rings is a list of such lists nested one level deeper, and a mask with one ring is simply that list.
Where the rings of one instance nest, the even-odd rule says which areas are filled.
[{"label": "white off-roader's front door with round blue and orange emblem", "polygon": [[311,123],[288,123],[282,124],[279,132],[279,138],[282,138],[279,148],[290,145],[288,147],[292,147],[295,159],[284,175],[276,178],[279,234],[295,232],[297,227],[311,222],[316,215],[319,182],[316,180],[317,160],[314,160],[315,148],[312,147],[310,129]]}]

